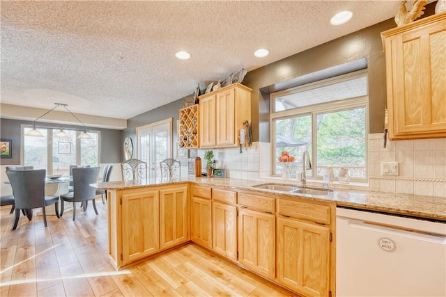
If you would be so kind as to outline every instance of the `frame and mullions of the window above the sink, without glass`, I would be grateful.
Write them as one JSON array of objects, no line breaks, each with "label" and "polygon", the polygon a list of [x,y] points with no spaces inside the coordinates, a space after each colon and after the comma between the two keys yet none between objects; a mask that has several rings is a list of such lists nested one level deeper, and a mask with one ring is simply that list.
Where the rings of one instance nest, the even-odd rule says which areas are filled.
[{"label": "frame and mullions of the window above the sink, without glass", "polygon": [[[276,147],[275,147],[275,135],[276,135],[276,121],[285,120],[287,118],[295,118],[298,116],[312,115],[312,163],[314,164],[314,170],[312,176],[307,176],[310,179],[321,180],[323,177],[316,175],[316,126],[313,125],[316,122],[316,115],[321,113],[330,113],[335,111],[345,111],[348,109],[365,109],[365,170],[366,176],[364,178],[352,178],[352,182],[367,182],[369,178],[369,156],[368,156],[368,135],[369,135],[369,83],[367,83],[367,95],[360,97],[353,97],[348,99],[337,100],[334,102],[325,102],[321,104],[314,104],[309,106],[298,107],[295,109],[286,109],[284,111],[275,111],[275,98],[282,97],[284,95],[290,95],[293,93],[299,93],[305,90],[311,90],[314,88],[321,88],[323,86],[330,85],[332,83],[339,83],[342,81],[355,79],[358,77],[366,77],[368,81],[368,72],[366,70],[359,70],[348,74],[339,75],[330,79],[324,79],[322,81],[316,81],[314,83],[308,83],[303,86],[295,88],[289,88],[270,94],[270,140],[271,140],[271,176],[279,177],[276,168]],[[301,158],[302,156],[295,156]]]}]

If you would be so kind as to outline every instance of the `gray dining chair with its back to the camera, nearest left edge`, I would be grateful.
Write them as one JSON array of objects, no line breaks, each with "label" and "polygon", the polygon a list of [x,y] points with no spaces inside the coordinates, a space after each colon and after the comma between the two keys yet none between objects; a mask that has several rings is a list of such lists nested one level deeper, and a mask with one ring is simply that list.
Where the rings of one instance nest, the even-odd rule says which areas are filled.
[{"label": "gray dining chair with its back to the camera, nearest left edge", "polygon": [[24,210],[31,220],[32,209],[42,208],[43,222],[47,227],[45,207],[54,204],[56,216],[59,218],[59,196],[45,195],[45,177],[47,170],[6,170],[6,175],[13,187],[15,219],[11,230],[17,228],[20,211]]}]

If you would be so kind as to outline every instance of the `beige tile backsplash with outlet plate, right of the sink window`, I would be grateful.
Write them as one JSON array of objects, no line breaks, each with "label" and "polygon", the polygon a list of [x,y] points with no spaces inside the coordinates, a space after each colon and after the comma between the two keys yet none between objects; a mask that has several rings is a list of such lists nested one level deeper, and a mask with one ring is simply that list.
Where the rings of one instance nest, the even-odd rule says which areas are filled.
[{"label": "beige tile backsplash with outlet plate, right of the sink window", "polygon": [[[398,176],[381,175],[381,163],[399,163]],[[446,138],[388,141],[369,134],[369,190],[446,197]]]}]

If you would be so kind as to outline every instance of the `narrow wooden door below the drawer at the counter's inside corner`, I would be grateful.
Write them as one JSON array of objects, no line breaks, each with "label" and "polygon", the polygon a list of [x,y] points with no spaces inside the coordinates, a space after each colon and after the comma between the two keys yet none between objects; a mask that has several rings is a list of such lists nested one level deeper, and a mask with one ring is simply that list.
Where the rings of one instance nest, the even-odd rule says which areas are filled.
[{"label": "narrow wooden door below the drawer at the counter's inside corner", "polygon": [[191,203],[192,241],[205,248],[212,248],[210,199],[192,196]]}]

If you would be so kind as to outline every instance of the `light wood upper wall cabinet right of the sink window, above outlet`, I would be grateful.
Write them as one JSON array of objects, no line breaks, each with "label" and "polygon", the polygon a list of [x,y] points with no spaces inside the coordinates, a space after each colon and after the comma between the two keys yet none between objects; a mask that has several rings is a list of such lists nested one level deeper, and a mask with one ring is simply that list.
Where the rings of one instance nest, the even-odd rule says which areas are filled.
[{"label": "light wood upper wall cabinet right of the sink window, above outlet", "polygon": [[389,138],[446,137],[446,13],[381,33]]}]

